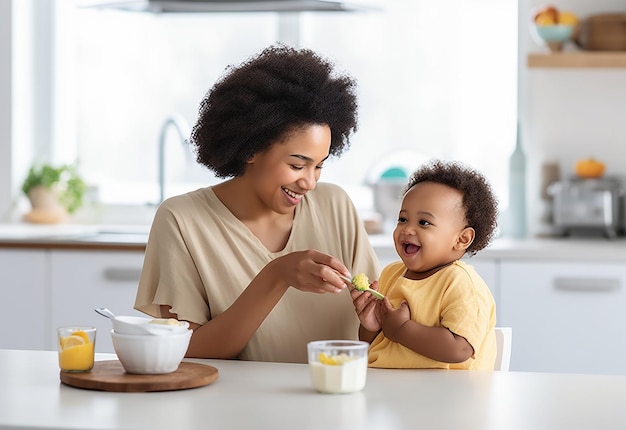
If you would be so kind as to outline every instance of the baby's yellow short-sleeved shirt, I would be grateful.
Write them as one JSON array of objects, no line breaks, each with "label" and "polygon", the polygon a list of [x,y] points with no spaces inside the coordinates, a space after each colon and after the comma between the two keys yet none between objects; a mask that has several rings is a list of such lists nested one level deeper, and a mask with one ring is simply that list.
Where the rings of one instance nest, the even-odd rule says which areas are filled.
[{"label": "baby's yellow short-sleeved shirt", "polygon": [[474,356],[463,363],[443,363],[392,342],[381,332],[369,351],[370,367],[493,370],[496,357],[495,301],[472,266],[463,261],[422,280],[403,277],[402,262],[389,264],[380,275],[380,292],[394,307],[406,300],[411,319],[429,327],[446,327],[463,336]]}]

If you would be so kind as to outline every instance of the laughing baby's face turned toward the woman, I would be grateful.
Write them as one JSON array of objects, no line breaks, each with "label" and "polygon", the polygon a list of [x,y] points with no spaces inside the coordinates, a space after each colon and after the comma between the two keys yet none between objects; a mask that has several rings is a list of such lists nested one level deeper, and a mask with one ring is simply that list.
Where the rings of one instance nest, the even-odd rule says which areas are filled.
[{"label": "laughing baby's face turned toward the woman", "polygon": [[460,239],[465,230],[463,194],[447,185],[420,182],[402,199],[393,239],[407,268],[423,273],[463,256],[466,246],[460,246]]}]

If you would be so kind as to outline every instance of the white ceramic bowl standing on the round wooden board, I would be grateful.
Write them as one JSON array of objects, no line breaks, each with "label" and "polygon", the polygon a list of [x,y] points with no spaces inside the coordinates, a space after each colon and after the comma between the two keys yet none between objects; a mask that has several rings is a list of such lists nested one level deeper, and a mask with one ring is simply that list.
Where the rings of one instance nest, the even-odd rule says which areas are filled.
[{"label": "white ceramic bowl standing on the round wooden board", "polygon": [[111,330],[113,348],[127,373],[171,373],[185,357],[191,330],[184,333],[154,336],[123,334]]}]

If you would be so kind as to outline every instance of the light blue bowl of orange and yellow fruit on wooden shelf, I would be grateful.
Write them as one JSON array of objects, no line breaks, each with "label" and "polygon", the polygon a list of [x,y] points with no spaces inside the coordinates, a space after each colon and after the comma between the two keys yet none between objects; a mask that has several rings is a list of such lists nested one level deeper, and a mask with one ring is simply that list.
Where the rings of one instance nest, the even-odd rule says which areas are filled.
[{"label": "light blue bowl of orange and yellow fruit on wooden shelf", "polygon": [[559,52],[578,31],[578,17],[554,6],[542,6],[531,14],[530,32],[541,46]]}]

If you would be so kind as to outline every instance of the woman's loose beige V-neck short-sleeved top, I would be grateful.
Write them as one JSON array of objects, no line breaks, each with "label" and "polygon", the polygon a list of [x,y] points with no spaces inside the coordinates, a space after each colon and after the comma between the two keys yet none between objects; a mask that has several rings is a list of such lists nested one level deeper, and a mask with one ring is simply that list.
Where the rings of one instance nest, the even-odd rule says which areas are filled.
[{"label": "woman's loose beige V-neck short-sleeved top", "polygon": [[[341,259],[351,273],[378,276],[365,228],[336,185],[318,183],[304,196],[280,252],[268,251],[211,188],[172,197],[155,215],[135,308],[159,316],[159,305],[170,305],[180,319],[204,324],[230,307],[272,259],[305,249]],[[306,362],[307,342],[356,339],[358,326],[348,289],[314,294],[289,288],[239,358]]]}]

